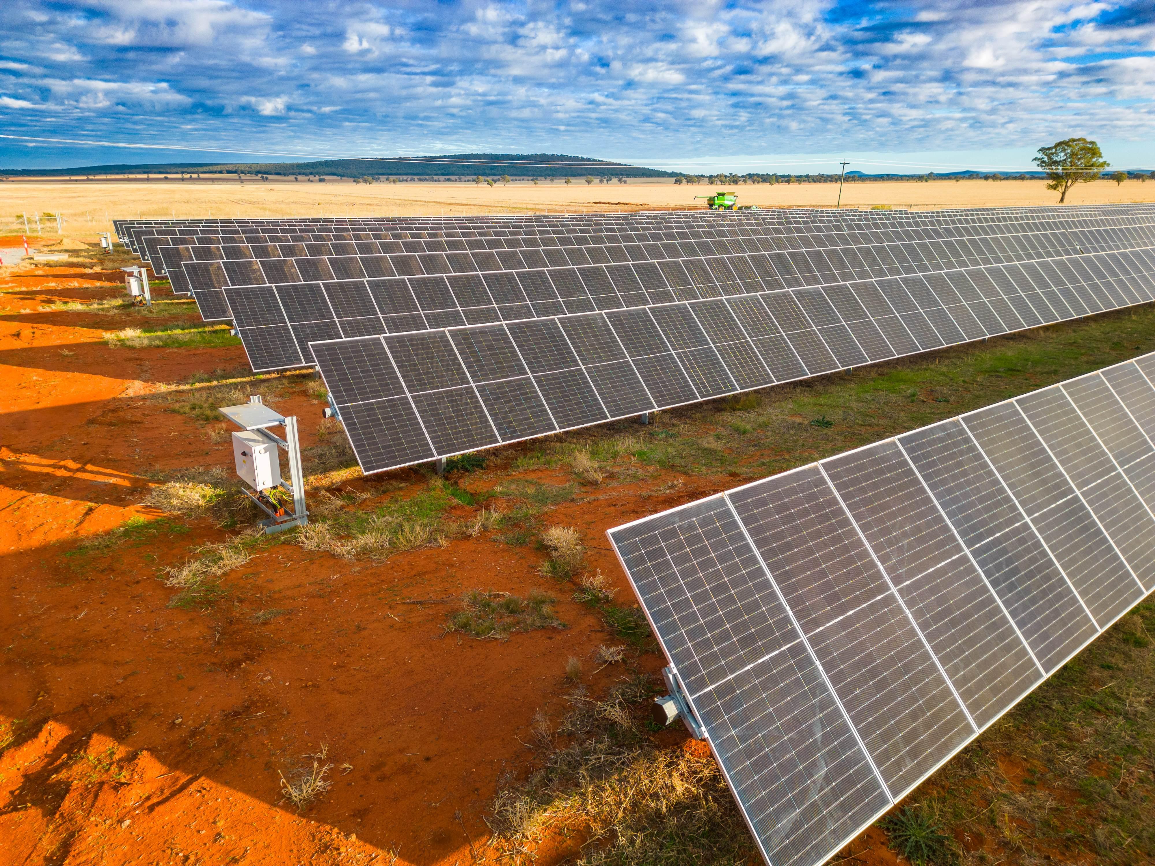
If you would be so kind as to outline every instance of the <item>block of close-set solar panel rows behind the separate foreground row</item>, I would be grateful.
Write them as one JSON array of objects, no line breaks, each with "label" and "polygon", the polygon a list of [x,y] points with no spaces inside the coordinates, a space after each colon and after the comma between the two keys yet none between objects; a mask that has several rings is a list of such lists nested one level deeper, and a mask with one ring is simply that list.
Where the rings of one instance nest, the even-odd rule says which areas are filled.
[{"label": "block of close-set solar panel rows behind the separate foreground row", "polygon": [[[1141,304],[1155,291],[1148,206],[119,230],[150,255],[179,251],[174,282],[176,266],[206,281],[193,286],[199,303],[218,299],[254,369],[318,363],[366,472]],[[219,242],[228,238],[247,242]]]}]

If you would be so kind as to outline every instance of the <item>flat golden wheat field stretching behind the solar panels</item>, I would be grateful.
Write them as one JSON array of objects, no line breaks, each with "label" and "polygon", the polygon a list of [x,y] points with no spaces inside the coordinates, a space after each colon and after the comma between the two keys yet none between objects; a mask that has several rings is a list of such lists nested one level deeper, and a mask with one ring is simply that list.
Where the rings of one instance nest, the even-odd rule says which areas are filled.
[{"label": "flat golden wheat field stretching behind the solar panels", "polygon": [[[351,181],[292,180],[67,180],[0,184],[0,232],[23,232],[22,215],[65,218],[65,234],[109,231],[112,219],[163,217],[422,216],[448,214],[558,214],[649,208],[701,207],[695,195],[720,189],[738,193],[739,204],[833,207],[837,184],[740,184],[687,186],[668,180],[628,184],[527,181],[495,184],[404,182],[363,185]],[[1155,201],[1155,182],[1098,180],[1067,195],[1068,203]],[[849,182],[842,207],[982,208],[1055,204],[1058,195],[1043,180],[934,180]],[[30,224],[35,233],[35,222]],[[55,219],[42,216],[44,234],[55,234]]]}]

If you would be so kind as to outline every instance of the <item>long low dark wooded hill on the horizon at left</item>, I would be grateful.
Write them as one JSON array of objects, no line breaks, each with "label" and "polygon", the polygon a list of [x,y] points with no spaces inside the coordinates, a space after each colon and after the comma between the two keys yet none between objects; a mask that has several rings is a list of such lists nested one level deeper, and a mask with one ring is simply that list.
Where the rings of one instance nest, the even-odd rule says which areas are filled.
[{"label": "long low dark wooded hill on the horizon at left", "polygon": [[590,159],[565,154],[449,154],[381,159],[320,159],[308,163],[149,163],[85,165],[73,169],[0,169],[6,177],[110,174],[277,174],[363,178],[672,178],[678,172]]}]

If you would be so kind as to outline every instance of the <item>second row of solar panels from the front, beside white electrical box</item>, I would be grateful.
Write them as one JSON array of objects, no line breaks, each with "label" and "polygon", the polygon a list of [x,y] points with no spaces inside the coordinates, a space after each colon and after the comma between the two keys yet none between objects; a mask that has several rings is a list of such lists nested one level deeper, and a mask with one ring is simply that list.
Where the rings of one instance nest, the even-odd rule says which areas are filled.
[{"label": "second row of solar panels from the front, beside white electrical box", "polygon": [[240,333],[259,369],[312,349],[375,472],[1146,303],[1143,261],[1126,279],[1075,259],[1038,284],[988,268],[360,339],[313,342],[329,322]]}]

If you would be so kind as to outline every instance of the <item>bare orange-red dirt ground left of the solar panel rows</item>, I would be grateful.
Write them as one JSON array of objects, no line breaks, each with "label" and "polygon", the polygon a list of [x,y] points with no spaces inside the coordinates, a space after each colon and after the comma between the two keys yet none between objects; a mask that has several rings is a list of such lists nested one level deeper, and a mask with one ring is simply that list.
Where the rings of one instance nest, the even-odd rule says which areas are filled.
[{"label": "bare orange-red dirt ground left of the solar panel rows", "polygon": [[[498,779],[532,756],[523,741],[535,711],[562,710],[567,658],[590,659],[611,636],[566,597],[567,629],[505,642],[442,636],[446,605],[403,604],[474,588],[564,595],[538,574],[539,554],[480,539],[380,563],[274,545],[229,575],[228,596],[208,611],[169,607],[172,590],[157,580],[159,566],[224,537],[208,521],[109,555],[68,555],[81,537],[156,516],[139,505],[147,471],[230,458],[149,394],[244,366],[239,346],[111,349],[102,333],[139,320],[40,311],[40,301],[117,294],[113,278],[61,268],[0,277],[9,599],[0,605],[0,722],[18,719],[0,757],[0,864],[471,861]],[[300,376],[286,379],[278,405],[301,417],[307,446],[320,405]],[[582,531],[590,568],[619,598],[632,593],[604,530],[728,484],[686,478],[673,495],[636,495],[672,477],[584,492],[549,517]],[[283,615],[253,620],[275,609]],[[647,671],[661,664],[641,659]],[[597,694],[619,675],[611,666],[586,685]],[[672,747],[699,747],[670,737]],[[321,744],[342,767],[298,815],[278,774]],[[877,829],[852,850],[864,851],[856,863],[896,863]]]}]

